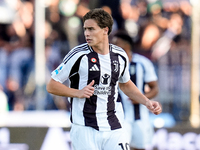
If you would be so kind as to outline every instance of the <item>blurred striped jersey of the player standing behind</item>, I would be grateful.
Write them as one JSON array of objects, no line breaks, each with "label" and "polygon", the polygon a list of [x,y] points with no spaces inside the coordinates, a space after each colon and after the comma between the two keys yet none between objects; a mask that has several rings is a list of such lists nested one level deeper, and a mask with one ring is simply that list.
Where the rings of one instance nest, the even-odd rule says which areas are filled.
[{"label": "blurred striped jersey of the player standing behind", "polygon": [[[157,81],[157,75],[153,63],[145,56],[133,54],[129,66],[130,78],[137,88],[144,93],[145,84]],[[142,104],[132,104],[130,99],[120,91],[123,102],[125,120],[134,122],[134,120],[149,119],[149,110]]]}]

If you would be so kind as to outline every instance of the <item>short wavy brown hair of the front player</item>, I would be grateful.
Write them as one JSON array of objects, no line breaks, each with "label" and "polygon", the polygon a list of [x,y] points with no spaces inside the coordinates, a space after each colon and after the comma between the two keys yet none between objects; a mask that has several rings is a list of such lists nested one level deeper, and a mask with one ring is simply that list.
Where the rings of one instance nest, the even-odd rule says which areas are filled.
[{"label": "short wavy brown hair of the front player", "polygon": [[83,22],[85,22],[88,19],[94,19],[100,28],[108,27],[108,35],[111,33],[113,26],[113,18],[108,12],[106,12],[102,8],[95,8],[86,13],[83,16]]}]

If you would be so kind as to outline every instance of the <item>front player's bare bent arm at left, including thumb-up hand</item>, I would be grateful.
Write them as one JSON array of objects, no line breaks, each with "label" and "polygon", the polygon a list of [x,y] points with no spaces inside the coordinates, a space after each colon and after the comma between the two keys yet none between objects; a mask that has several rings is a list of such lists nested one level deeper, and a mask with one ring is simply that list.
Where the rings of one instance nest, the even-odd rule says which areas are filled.
[{"label": "front player's bare bent arm at left, including thumb-up hand", "polygon": [[65,96],[65,97],[78,97],[78,98],[90,98],[90,96],[94,93],[94,87],[93,87],[94,81],[92,81],[90,84],[85,86],[83,89],[73,89],[69,88],[66,85],[55,81],[51,78],[49,83],[47,84],[47,92],[58,95],[58,96]]}]

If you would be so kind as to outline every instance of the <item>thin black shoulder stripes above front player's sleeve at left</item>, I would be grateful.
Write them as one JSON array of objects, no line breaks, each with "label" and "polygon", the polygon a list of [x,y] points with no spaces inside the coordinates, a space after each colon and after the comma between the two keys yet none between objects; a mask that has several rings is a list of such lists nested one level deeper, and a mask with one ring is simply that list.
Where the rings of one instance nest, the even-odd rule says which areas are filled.
[{"label": "thin black shoulder stripes above front player's sleeve at left", "polygon": [[74,49],[72,49],[72,50],[67,54],[67,56],[66,56],[66,57],[64,58],[64,60],[63,60],[63,63],[66,64],[66,63],[70,60],[70,58],[72,58],[75,54],[77,54],[77,53],[79,53],[79,52],[82,52],[82,51],[88,51],[88,50],[91,51],[91,49],[89,49],[88,44],[82,44],[82,45],[80,45],[80,46],[75,47]]}]

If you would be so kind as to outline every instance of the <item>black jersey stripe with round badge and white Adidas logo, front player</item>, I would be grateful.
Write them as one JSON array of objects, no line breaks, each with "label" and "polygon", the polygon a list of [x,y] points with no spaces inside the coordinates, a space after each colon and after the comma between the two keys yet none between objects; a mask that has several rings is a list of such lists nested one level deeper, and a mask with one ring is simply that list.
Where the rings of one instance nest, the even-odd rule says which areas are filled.
[{"label": "black jersey stripe with round badge and white Adidas logo, front player", "polygon": [[[100,63],[98,54],[96,52],[89,53],[88,57],[88,69],[92,68],[94,65],[97,65],[99,68],[98,71],[89,71],[88,70],[88,83],[92,80],[95,81],[95,84],[99,85],[100,83]],[[96,62],[92,62],[91,59],[95,58]],[[96,118],[96,108],[97,108],[97,95],[91,96],[89,99],[86,98],[84,108],[83,108],[83,116],[85,118],[85,125],[95,128],[99,130],[97,118]]]}]

